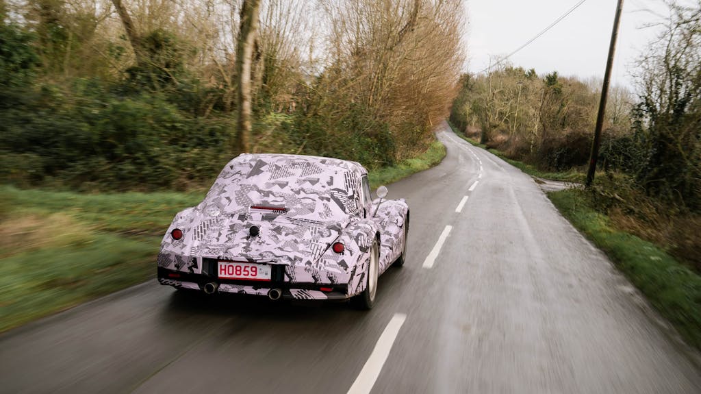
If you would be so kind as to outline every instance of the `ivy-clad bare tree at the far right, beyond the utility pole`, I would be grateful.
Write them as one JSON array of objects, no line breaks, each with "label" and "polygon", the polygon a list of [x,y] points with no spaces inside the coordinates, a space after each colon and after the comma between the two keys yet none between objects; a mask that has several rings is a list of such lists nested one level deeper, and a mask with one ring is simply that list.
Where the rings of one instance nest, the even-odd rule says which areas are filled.
[{"label": "ivy-clad bare tree at the far right, beyond the utility pole", "polygon": [[701,3],[669,4],[671,13],[639,64],[629,167],[648,193],[701,209]]}]

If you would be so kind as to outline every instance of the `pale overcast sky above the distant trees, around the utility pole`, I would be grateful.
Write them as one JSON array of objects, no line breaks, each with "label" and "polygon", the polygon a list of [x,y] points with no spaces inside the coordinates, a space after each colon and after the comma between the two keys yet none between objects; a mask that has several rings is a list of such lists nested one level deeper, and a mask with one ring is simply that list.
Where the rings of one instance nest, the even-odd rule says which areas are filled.
[{"label": "pale overcast sky above the distant trees, around the utility pole", "polygon": [[[536,36],[578,0],[467,0],[465,31],[469,72],[489,67],[490,57],[505,56]],[[543,36],[510,57],[514,66],[539,75],[603,79],[616,0],[587,0]],[[611,83],[634,88],[634,62],[657,34],[667,15],[660,0],[624,0]],[[494,62],[494,60],[493,60]]]}]

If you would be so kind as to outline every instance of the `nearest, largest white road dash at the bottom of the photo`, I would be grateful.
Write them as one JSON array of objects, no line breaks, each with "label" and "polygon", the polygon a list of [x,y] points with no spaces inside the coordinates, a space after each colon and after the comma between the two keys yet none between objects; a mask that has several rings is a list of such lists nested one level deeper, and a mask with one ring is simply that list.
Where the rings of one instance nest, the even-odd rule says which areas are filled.
[{"label": "nearest, largest white road dash at the bottom of the photo", "polygon": [[353,386],[348,390],[348,394],[366,394],[372,390],[377,376],[380,375],[382,366],[385,365],[385,361],[390,355],[390,350],[392,350],[392,345],[397,339],[397,334],[399,334],[399,329],[402,328],[404,320],[407,320],[407,315],[395,313],[377,340],[375,348],[370,353],[370,358],[367,359],[360,370],[360,374],[355,378]]}]

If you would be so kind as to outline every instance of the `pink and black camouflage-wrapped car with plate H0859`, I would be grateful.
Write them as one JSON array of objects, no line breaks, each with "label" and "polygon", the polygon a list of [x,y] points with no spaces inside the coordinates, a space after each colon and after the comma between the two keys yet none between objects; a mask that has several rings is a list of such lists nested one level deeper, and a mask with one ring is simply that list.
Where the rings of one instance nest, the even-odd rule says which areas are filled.
[{"label": "pink and black camouflage-wrapped car with plate H0859", "polygon": [[370,194],[354,161],[241,154],[161,241],[158,281],[207,294],[375,303],[377,278],[407,259],[409,205]]}]

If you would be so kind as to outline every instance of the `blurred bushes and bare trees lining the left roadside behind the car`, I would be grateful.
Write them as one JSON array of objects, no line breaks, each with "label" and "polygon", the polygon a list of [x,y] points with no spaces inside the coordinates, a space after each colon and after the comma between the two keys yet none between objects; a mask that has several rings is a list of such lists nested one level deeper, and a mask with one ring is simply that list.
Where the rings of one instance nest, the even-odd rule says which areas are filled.
[{"label": "blurred bushes and bare trees lining the left roadside behind the car", "polygon": [[[264,4],[250,151],[374,169],[435,141],[463,61],[462,7],[390,3]],[[209,186],[240,153],[231,148],[239,9],[224,0],[3,1],[0,182],[86,192]]]}]

